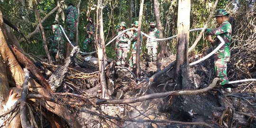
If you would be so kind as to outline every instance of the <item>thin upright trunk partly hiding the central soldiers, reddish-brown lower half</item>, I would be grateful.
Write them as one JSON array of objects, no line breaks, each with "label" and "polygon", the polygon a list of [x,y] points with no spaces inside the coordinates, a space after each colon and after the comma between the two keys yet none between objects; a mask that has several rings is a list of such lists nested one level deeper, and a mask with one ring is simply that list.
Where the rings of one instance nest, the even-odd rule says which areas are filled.
[{"label": "thin upright trunk partly hiding the central soldiers, reddish-brown lower half", "polygon": [[140,9],[139,9],[139,25],[138,25],[138,32],[137,32],[137,51],[136,51],[136,75],[137,77],[140,76],[140,65],[139,65],[139,53],[140,53],[140,30],[141,30],[141,20],[143,14],[143,5],[144,0],[141,0]]}]

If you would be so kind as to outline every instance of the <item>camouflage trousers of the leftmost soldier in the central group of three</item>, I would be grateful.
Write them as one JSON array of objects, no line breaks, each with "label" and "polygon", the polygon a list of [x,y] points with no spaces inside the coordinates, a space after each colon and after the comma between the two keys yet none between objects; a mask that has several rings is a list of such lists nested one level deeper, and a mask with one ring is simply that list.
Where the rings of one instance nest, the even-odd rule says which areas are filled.
[{"label": "camouflage trousers of the leftmost soldier in the central group of three", "polygon": [[127,47],[117,46],[117,65],[125,65],[125,58],[127,57]]}]

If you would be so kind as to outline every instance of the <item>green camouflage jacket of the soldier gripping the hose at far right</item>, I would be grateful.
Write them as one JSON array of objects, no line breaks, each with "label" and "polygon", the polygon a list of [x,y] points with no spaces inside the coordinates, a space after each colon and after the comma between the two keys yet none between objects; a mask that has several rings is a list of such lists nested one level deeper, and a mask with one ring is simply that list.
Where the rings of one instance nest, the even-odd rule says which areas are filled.
[{"label": "green camouflage jacket of the soldier gripping the hose at far right", "polygon": [[[218,57],[229,57],[230,56],[230,50],[229,50],[229,46],[230,46],[230,40],[231,40],[231,33],[232,33],[232,28],[231,28],[231,24],[229,23],[229,21],[224,21],[219,27],[217,28],[208,28],[205,30],[205,34],[206,35],[215,35],[215,36],[220,36],[223,38],[225,45],[223,45],[222,47],[220,47],[220,49],[215,53],[216,55],[218,55]],[[214,40],[214,47],[219,46],[220,44],[220,40],[216,37]]]}]

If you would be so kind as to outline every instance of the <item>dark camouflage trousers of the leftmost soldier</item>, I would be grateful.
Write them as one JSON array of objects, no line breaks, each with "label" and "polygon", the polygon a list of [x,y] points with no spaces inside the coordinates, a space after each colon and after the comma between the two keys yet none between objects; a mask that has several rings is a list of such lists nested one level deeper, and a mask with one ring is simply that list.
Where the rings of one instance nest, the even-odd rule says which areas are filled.
[{"label": "dark camouflage trousers of the leftmost soldier", "polygon": [[[59,42],[60,42],[60,46],[58,46]],[[56,56],[58,50],[60,53],[60,55],[59,55],[60,59],[64,60],[64,40],[60,40],[60,41],[54,40],[53,43],[51,44],[49,52],[50,52],[50,55],[54,59],[55,59],[55,56]]]}]

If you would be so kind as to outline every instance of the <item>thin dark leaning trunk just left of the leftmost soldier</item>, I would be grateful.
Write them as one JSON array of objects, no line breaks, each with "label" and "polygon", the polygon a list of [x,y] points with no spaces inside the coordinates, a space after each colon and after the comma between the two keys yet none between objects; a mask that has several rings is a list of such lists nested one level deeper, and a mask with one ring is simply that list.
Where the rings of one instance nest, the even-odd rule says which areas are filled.
[{"label": "thin dark leaning trunk just left of the leftmost soldier", "polygon": [[39,16],[39,14],[38,14],[38,10],[37,10],[37,5],[36,5],[36,4],[35,4],[35,12],[36,12],[36,15],[37,15],[37,18],[38,18],[38,22],[39,22],[39,25],[40,25],[40,29],[42,30],[43,43],[44,43],[44,47],[45,47],[45,50],[46,50],[46,55],[47,55],[47,57],[48,57],[49,63],[50,63],[50,64],[53,64],[53,61],[52,61],[52,59],[51,59],[51,56],[50,56],[50,53],[49,53],[49,50],[48,50],[48,47],[47,47],[47,44],[46,44],[45,30],[44,30],[44,27],[43,27],[43,25],[42,25],[40,16]]}]

